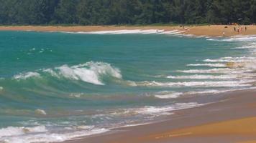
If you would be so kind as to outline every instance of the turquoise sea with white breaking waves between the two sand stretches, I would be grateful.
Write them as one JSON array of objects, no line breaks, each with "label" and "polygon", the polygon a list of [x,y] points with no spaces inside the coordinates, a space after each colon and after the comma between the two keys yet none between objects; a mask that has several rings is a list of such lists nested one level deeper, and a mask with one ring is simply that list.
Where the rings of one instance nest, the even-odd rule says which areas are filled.
[{"label": "turquoise sea with white breaking waves between the two sand stretches", "polygon": [[255,36],[1,31],[0,142],[61,142],[251,89],[255,48]]}]

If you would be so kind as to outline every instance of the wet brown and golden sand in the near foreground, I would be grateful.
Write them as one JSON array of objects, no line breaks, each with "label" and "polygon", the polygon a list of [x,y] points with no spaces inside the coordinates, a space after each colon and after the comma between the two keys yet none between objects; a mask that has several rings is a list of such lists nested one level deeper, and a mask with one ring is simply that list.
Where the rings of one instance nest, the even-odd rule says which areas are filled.
[{"label": "wet brown and golden sand in the near foreground", "polygon": [[174,111],[160,122],[120,127],[63,143],[255,142],[255,92],[220,94],[220,102]]}]

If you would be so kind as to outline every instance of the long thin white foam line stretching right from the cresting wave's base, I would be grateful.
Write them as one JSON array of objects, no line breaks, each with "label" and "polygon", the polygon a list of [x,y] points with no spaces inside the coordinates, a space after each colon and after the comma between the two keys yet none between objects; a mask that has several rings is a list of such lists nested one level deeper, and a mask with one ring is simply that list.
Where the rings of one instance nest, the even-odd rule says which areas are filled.
[{"label": "long thin white foam line stretching right from the cresting wave's base", "polygon": [[132,87],[250,87],[255,80],[221,82],[131,82]]}]

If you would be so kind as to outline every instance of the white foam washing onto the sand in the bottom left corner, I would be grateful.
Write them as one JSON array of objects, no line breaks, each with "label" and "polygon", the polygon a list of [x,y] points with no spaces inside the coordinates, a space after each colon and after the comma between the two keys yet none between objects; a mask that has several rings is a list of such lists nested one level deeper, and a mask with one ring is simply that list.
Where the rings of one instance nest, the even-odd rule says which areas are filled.
[{"label": "white foam washing onto the sand in the bottom left corner", "polygon": [[40,143],[40,142],[64,142],[78,137],[84,137],[91,134],[101,134],[108,129],[89,128],[73,132],[51,133],[47,132],[45,127],[8,127],[0,129],[0,142],[4,143]]}]

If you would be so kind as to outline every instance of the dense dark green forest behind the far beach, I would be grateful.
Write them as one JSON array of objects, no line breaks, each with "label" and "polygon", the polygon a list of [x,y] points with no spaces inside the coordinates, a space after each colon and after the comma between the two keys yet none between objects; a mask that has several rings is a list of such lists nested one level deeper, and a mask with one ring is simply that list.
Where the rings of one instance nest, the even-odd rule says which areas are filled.
[{"label": "dense dark green forest behind the far beach", "polygon": [[256,0],[0,0],[0,24],[256,23]]}]

